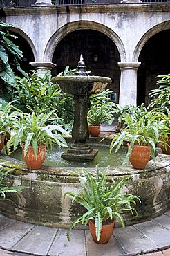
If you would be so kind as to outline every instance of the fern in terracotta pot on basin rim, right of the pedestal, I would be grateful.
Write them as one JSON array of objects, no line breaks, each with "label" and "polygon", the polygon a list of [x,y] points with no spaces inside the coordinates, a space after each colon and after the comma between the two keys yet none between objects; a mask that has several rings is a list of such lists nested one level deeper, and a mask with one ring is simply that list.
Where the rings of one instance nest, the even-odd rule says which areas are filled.
[{"label": "fern in terracotta pot on basin rim, right of the pedestal", "polygon": [[159,140],[158,122],[153,113],[147,112],[140,120],[126,113],[126,127],[113,136],[110,152],[117,152],[123,143],[128,143],[128,150],[123,165],[131,162],[135,169],[144,169],[150,157],[155,159],[156,144]]}]

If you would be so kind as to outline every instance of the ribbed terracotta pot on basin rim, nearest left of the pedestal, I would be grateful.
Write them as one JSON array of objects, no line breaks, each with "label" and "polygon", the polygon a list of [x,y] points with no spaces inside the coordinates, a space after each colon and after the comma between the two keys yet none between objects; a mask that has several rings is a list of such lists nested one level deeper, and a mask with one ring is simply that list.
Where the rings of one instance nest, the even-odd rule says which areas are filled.
[{"label": "ribbed terracotta pot on basin rim, nearest left of the pedestal", "polygon": [[37,156],[35,155],[35,152],[32,146],[28,147],[28,152],[26,156],[23,155],[23,150],[24,150],[24,147],[22,149],[22,157],[23,157],[23,160],[26,162],[28,169],[31,169],[31,170],[40,169],[46,158],[46,145],[41,145],[38,147]]}]

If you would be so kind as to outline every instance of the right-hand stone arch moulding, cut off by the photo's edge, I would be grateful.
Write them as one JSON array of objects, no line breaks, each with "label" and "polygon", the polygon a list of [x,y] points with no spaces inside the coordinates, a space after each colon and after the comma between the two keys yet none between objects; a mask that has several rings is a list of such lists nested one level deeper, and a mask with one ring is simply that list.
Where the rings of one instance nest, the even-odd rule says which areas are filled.
[{"label": "right-hand stone arch moulding, cut off by the photo's edge", "polygon": [[135,50],[133,52],[133,62],[138,62],[140,52],[142,51],[144,44],[146,44],[149,38],[161,32],[162,30],[167,30],[167,29],[170,29],[170,21],[162,22],[161,24],[153,26],[153,28],[148,30],[147,33],[143,35],[143,37],[140,39],[137,46],[135,47]]}]

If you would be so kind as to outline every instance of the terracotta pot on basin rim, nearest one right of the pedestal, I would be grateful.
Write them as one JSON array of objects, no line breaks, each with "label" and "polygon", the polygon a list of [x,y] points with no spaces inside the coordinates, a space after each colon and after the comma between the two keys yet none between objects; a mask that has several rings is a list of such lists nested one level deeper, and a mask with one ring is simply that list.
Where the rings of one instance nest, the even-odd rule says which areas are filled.
[{"label": "terracotta pot on basin rim, nearest one right of the pedestal", "polygon": [[129,160],[134,169],[142,170],[149,162],[150,156],[151,149],[149,146],[134,145]]}]

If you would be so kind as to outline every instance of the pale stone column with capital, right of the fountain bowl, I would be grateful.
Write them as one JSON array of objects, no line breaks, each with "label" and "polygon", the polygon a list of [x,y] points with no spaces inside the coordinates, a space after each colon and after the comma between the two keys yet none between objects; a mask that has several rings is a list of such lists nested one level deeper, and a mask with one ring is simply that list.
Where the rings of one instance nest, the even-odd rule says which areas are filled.
[{"label": "pale stone column with capital, right of the fountain bowl", "polygon": [[137,101],[137,71],[141,62],[118,62],[121,70],[119,104],[136,105]]}]

